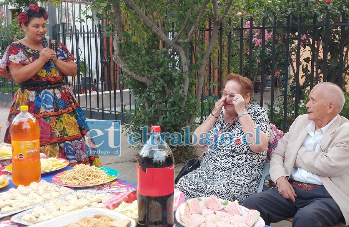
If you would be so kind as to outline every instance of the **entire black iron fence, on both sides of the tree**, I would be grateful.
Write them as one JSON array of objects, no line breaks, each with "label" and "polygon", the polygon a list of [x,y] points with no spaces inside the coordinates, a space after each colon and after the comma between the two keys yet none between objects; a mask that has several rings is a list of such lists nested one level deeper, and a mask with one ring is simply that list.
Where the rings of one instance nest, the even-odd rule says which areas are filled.
[{"label": "entire black iron fence, on both sides of the tree", "polygon": [[[260,24],[253,18],[241,19],[233,29],[230,19],[222,24],[216,51],[208,61],[199,120],[210,113],[212,100],[220,97],[221,82],[230,72],[253,81],[257,102],[269,109],[271,122],[284,130],[316,83],[331,81],[346,90],[346,13],[337,22],[330,13],[319,21],[314,15],[312,22],[299,16],[298,22],[292,23],[289,16],[284,23],[274,17],[271,23],[264,18]],[[124,112],[135,108],[134,99],[122,83],[122,69],[112,59],[112,34],[103,29],[104,21],[100,22],[94,26],[56,26],[60,28],[58,40],[68,47],[78,65],[78,75],[66,81],[88,118],[127,122]],[[210,38],[211,27],[202,32]],[[2,78],[0,93],[13,94],[13,86],[11,80]]]}]

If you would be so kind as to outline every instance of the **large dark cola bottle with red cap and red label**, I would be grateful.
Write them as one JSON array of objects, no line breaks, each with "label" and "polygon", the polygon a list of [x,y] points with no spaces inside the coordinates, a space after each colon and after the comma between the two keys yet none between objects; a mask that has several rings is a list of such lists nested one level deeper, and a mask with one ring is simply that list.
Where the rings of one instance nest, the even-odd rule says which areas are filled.
[{"label": "large dark cola bottle with red cap and red label", "polygon": [[174,225],[174,156],[160,136],[160,126],[151,136],[137,161],[138,226]]}]

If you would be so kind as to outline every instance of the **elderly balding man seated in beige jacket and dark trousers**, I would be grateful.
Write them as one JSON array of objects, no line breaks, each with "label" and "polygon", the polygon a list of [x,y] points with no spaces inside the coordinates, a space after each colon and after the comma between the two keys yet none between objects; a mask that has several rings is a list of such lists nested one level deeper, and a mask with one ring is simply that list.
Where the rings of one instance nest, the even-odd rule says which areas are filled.
[{"label": "elderly balding man seated in beige jacket and dark trousers", "polygon": [[294,217],[293,227],[349,225],[349,120],[345,98],[330,82],[311,90],[308,115],[297,117],[271,155],[277,188],[247,198],[265,223]]}]

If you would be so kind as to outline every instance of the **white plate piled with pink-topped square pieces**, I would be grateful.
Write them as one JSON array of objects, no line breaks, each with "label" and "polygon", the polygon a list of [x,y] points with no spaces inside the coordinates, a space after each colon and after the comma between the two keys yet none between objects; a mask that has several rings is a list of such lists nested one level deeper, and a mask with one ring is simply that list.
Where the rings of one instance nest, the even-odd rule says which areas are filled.
[{"label": "white plate piled with pink-topped square pieces", "polygon": [[259,214],[237,201],[221,200],[212,195],[185,201],[177,209],[175,218],[184,227],[264,227],[264,220]]}]

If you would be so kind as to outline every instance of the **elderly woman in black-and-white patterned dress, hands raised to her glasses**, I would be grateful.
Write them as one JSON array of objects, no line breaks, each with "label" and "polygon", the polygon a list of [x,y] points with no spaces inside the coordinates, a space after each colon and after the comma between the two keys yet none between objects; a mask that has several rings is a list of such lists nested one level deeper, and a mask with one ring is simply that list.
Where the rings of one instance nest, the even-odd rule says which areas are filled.
[{"label": "elderly woman in black-and-white patterned dress, hands raised to her glasses", "polygon": [[[222,97],[194,131],[204,148],[200,166],[179,179],[175,188],[186,199],[209,197],[240,204],[256,193],[266,162],[270,135],[267,111],[250,104],[251,80],[231,73],[223,81]],[[201,143],[200,143],[201,142]]]}]

